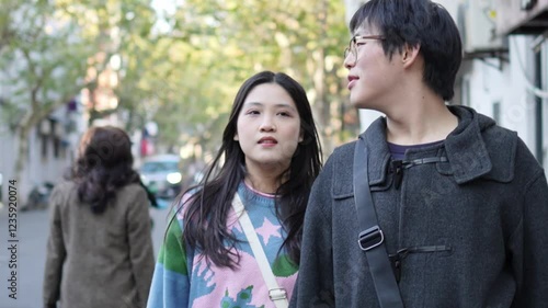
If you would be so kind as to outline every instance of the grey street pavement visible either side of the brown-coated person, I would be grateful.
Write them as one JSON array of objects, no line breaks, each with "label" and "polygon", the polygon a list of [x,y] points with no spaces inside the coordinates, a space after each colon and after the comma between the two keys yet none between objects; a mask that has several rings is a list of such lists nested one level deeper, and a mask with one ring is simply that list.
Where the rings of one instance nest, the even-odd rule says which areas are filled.
[{"label": "grey street pavement visible either side of the brown-coated person", "polygon": [[[169,208],[169,206],[168,206]],[[155,256],[158,255],[160,243],[163,239],[167,209],[151,208],[150,215],[155,220],[152,240]],[[9,248],[14,242],[9,242],[8,213],[5,206],[0,209],[0,308],[41,308],[42,307],[42,278],[46,254],[46,240],[48,235],[48,212],[31,210],[18,213],[16,242],[16,296],[9,297],[9,287],[12,271],[9,265],[11,251]]]}]

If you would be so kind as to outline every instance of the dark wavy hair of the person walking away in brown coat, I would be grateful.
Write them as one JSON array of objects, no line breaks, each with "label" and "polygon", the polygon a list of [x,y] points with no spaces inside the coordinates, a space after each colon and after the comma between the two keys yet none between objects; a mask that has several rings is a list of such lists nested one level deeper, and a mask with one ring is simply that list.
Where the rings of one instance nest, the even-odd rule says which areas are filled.
[{"label": "dark wavy hair of the person walking away in brown coat", "polygon": [[82,136],[71,180],[78,197],[101,214],[116,196],[116,191],[129,183],[139,183],[133,169],[132,141],[121,128],[92,127]]}]

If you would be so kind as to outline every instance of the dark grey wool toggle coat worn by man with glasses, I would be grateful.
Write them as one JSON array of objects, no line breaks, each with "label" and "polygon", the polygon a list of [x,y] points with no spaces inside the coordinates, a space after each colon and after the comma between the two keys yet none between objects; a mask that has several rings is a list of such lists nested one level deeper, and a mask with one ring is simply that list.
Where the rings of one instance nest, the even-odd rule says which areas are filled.
[{"label": "dark grey wool toggle coat worn by man with glasses", "polygon": [[[458,127],[410,160],[446,157],[402,171],[395,186],[386,122],[364,133],[369,185],[388,253],[401,261],[408,308],[548,307],[548,185],[517,134],[473,110],[450,106]],[[290,307],[379,307],[353,192],[354,142],[338,148],[316,180],[305,218]]]}]

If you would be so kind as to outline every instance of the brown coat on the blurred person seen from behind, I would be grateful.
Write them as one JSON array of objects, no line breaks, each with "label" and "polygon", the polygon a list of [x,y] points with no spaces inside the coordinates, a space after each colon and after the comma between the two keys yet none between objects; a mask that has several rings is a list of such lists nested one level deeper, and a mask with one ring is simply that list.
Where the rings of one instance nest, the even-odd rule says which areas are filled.
[{"label": "brown coat on the blurred person seen from behind", "polygon": [[103,214],[78,199],[76,185],[58,185],[50,198],[44,305],[62,308],[145,307],[155,260],[149,202],[130,184]]}]

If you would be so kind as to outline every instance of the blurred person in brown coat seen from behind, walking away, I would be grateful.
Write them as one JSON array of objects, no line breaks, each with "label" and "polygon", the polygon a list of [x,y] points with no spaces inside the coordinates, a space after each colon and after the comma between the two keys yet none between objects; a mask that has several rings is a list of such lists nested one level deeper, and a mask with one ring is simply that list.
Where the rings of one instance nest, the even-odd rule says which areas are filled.
[{"label": "blurred person in brown coat seen from behind, walking away", "polygon": [[89,129],[70,181],[52,193],[44,307],[145,307],[155,260],[130,147],[119,128]]}]

